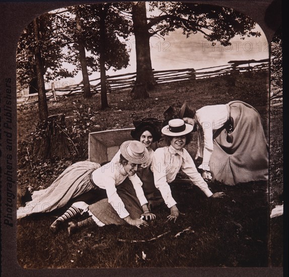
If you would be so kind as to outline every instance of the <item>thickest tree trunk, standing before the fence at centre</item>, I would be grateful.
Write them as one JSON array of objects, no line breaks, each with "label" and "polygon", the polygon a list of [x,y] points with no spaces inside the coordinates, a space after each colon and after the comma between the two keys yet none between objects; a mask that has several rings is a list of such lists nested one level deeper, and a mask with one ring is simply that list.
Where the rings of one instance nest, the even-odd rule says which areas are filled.
[{"label": "thickest tree trunk, standing before the fence at centre", "polygon": [[131,93],[133,99],[144,99],[150,97],[148,91],[156,86],[145,2],[132,2],[132,21],[136,51],[136,82]]}]

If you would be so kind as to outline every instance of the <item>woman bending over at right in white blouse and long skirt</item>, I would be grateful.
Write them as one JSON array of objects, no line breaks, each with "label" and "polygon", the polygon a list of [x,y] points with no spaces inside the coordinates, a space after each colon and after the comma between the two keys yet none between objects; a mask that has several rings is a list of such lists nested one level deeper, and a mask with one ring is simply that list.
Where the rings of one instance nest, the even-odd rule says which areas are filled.
[{"label": "woman bending over at right in white blouse and long skirt", "polygon": [[[227,185],[268,180],[268,145],[259,113],[242,101],[185,107],[183,120],[198,132],[202,177]],[[204,147],[202,147],[202,135]]]}]

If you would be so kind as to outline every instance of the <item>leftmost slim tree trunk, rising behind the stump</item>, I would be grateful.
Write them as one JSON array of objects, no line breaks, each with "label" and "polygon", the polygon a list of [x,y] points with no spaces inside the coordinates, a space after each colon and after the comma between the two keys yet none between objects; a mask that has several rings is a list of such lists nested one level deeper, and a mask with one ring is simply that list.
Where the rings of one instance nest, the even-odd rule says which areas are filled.
[{"label": "leftmost slim tree trunk, rising behind the stump", "polygon": [[37,77],[37,89],[38,89],[39,120],[46,121],[48,118],[48,107],[47,107],[47,99],[46,99],[46,94],[45,94],[43,62],[42,62],[42,56],[41,56],[41,49],[39,45],[40,30],[39,30],[38,18],[35,18],[33,20],[33,30],[34,30],[34,38],[35,38],[34,58],[35,58],[35,70],[36,70],[36,77]]}]

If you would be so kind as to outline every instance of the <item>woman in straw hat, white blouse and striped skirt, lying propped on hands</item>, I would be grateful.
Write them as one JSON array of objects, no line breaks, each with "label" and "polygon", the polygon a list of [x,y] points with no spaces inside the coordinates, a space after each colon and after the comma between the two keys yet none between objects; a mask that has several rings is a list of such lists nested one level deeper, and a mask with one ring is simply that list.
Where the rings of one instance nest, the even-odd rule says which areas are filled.
[{"label": "woman in straw hat, white blouse and striped skirt, lying propped on hands", "polygon": [[[106,192],[108,201],[119,218],[133,226],[146,225],[143,220],[132,219],[129,216],[129,212],[117,194],[116,186],[128,177],[142,211],[148,216],[155,217],[149,211],[148,201],[141,188],[142,183],[135,174],[137,167],[148,160],[149,153],[143,144],[127,141],[120,146],[119,152],[112,161],[102,167],[87,161],[71,165],[48,188],[34,191],[31,195],[32,200],[27,202],[25,207],[19,207],[17,210],[17,219],[33,213],[51,212],[64,206],[69,200],[94,190],[97,194]],[[51,228],[57,229],[59,222],[55,222]]]}]

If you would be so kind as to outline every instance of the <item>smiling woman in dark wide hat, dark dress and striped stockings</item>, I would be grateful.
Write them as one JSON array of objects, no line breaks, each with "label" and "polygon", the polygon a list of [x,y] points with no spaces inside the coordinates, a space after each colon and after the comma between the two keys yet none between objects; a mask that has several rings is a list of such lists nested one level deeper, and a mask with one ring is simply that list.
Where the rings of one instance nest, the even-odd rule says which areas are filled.
[{"label": "smiling woman in dark wide hat, dark dress and striped stockings", "polygon": [[[134,120],[133,124],[135,129],[131,130],[131,136],[135,140],[141,142],[149,152],[148,161],[138,166],[136,175],[142,182],[144,196],[146,196],[151,210],[153,207],[164,202],[160,191],[154,184],[154,175],[151,171],[151,164],[154,156],[152,145],[153,143],[159,141],[162,136],[160,130],[162,123],[157,118],[142,118],[140,120]],[[117,186],[117,194],[124,202],[124,206],[129,212],[131,218],[139,219],[141,216],[143,216],[146,220],[155,219],[155,216],[148,211],[142,214],[141,206],[139,205],[139,201],[136,198],[129,178],[126,178],[122,182],[121,186]],[[81,196],[77,198],[75,203],[73,203],[69,209],[51,225],[50,229],[54,232],[56,231],[55,225],[57,225],[59,222],[62,223],[75,217],[77,214],[82,214],[84,212],[88,212],[91,217],[78,223],[76,221],[69,222],[69,234],[76,231],[76,229],[78,229],[80,226],[93,223],[96,223],[98,226],[108,224],[121,225],[125,223],[125,221],[120,219],[116,212],[108,204],[108,199],[101,199],[100,201],[99,199],[95,199],[95,201],[88,201]]]}]

